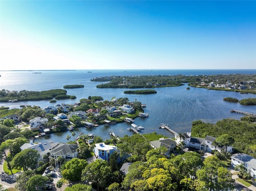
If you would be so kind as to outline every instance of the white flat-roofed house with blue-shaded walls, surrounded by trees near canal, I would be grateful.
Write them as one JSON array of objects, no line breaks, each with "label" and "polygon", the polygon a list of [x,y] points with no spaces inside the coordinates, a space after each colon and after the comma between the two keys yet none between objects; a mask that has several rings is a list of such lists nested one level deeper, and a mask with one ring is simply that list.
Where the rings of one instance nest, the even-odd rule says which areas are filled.
[{"label": "white flat-roofed house with blue-shaded walls, surrounded by trees near canal", "polygon": [[105,143],[96,143],[93,150],[97,159],[102,159],[109,162],[111,154],[114,151],[117,151],[117,148],[116,146],[106,145]]}]

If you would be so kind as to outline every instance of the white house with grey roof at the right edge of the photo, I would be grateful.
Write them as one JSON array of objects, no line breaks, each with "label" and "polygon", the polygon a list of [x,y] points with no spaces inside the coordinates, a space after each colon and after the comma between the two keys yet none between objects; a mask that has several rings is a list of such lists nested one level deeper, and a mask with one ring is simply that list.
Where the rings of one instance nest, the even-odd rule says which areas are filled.
[{"label": "white house with grey roof at the right edge of the photo", "polygon": [[256,178],[256,158],[244,153],[234,154],[230,158],[232,167],[243,164],[247,172],[250,173],[253,178]]}]

